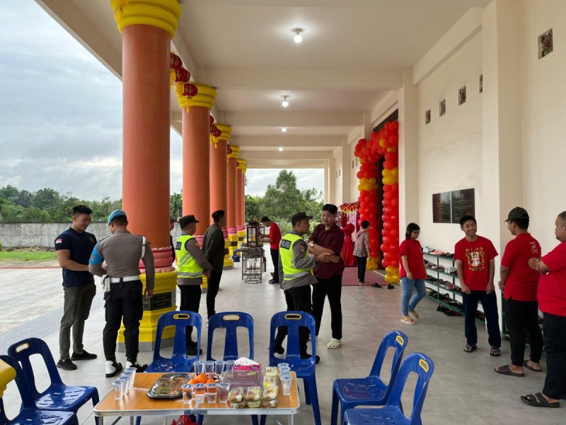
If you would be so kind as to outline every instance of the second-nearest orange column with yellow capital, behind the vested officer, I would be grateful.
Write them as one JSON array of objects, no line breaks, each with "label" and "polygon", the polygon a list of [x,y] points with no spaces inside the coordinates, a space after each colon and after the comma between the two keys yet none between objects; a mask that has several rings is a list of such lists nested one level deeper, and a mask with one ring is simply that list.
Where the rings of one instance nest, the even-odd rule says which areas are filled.
[{"label": "second-nearest orange column with yellow capital, behind the vested officer", "polygon": [[210,110],[216,90],[195,84],[198,94],[181,98],[183,108],[183,215],[195,215],[195,237],[201,239],[210,222]]}]

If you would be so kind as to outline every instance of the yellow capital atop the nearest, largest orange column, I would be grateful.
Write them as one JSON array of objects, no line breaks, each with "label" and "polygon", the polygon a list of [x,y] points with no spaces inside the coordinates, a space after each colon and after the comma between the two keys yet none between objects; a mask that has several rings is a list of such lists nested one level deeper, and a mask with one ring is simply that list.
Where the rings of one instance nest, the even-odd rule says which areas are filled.
[{"label": "yellow capital atop the nearest, largest orange column", "polygon": [[131,25],[149,25],[175,37],[181,6],[178,0],[110,0],[120,33]]}]

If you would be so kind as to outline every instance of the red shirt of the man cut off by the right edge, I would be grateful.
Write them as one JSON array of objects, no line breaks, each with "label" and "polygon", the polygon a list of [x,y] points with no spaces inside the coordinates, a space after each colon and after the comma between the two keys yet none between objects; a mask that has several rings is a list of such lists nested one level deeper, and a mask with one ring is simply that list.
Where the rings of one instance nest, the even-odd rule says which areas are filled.
[{"label": "red shirt of the man cut off by the right edge", "polygon": [[541,259],[550,270],[538,280],[538,308],[543,313],[566,316],[566,242]]}]

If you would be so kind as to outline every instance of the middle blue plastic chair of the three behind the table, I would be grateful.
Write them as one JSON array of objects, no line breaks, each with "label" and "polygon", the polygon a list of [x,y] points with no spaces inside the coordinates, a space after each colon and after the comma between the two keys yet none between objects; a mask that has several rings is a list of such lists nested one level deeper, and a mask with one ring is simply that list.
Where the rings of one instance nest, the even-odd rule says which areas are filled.
[{"label": "middle blue plastic chair of the three behind the table", "polygon": [[236,329],[244,327],[248,329],[250,340],[250,356],[253,359],[253,318],[248,313],[243,312],[221,312],[216,313],[208,319],[208,341],[207,341],[207,360],[216,360],[212,358],[212,337],[214,330],[219,328],[226,329],[226,337],[224,338],[224,360],[236,360],[238,356],[238,336]]}]

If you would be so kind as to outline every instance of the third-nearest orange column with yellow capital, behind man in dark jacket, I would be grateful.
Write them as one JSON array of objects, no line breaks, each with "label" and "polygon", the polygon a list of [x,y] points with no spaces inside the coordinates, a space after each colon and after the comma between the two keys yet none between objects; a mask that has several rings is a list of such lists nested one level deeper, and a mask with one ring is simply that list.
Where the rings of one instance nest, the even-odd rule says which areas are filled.
[{"label": "third-nearest orange column with yellow capital, behind man in dark jacket", "polygon": [[[210,147],[210,213],[216,210],[228,210],[228,194],[226,182],[228,179],[226,166],[228,159],[228,140],[230,139],[231,128],[229,125],[218,124],[216,127],[221,131],[216,147]],[[227,218],[227,215],[226,215]],[[233,261],[229,258],[228,230],[224,230],[224,247],[226,256],[224,257],[224,268],[233,267]]]}]

